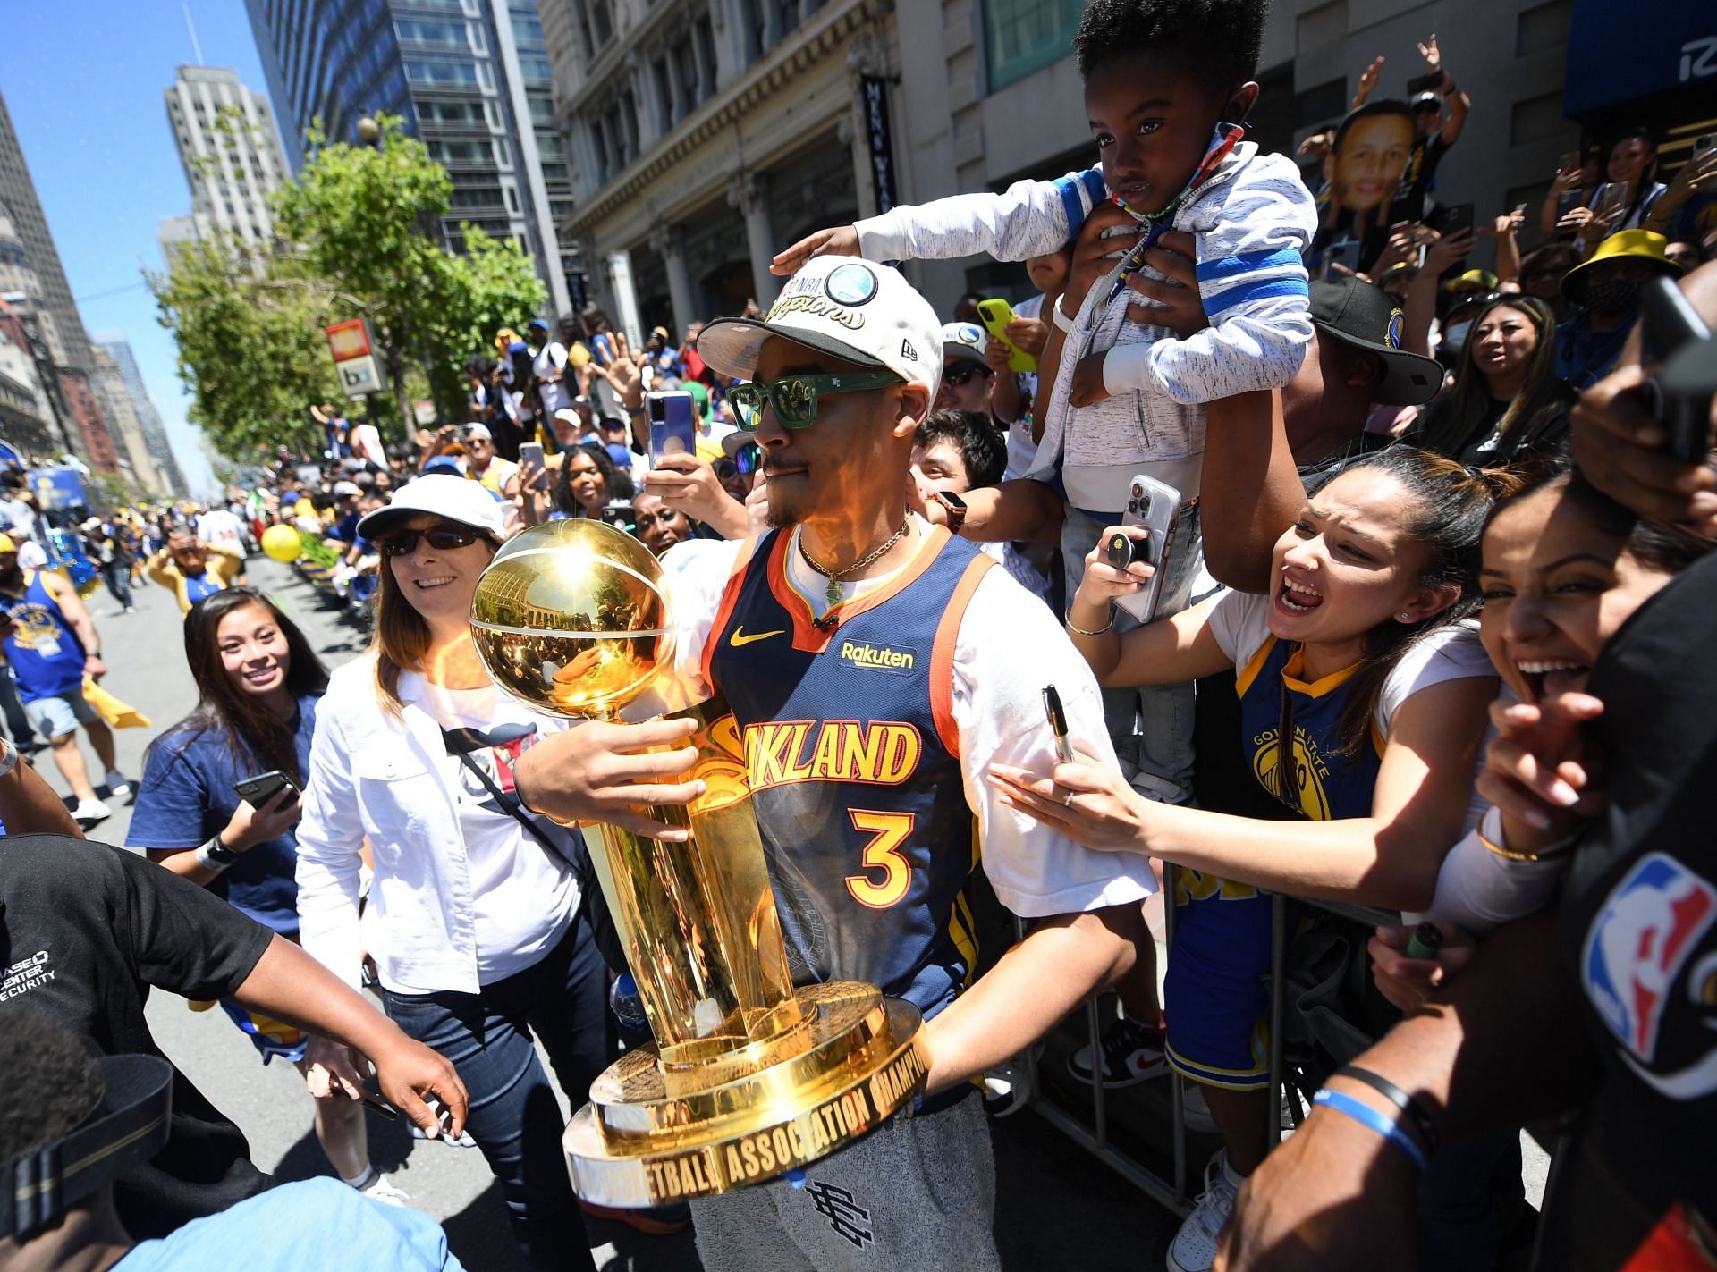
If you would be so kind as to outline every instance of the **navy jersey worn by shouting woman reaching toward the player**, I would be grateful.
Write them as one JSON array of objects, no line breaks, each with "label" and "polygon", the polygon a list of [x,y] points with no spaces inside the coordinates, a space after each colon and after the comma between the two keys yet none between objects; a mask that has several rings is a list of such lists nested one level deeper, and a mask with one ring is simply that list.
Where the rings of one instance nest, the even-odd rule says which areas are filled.
[{"label": "navy jersey worn by shouting woman reaching toward the player", "polygon": [[1358,663],[1324,676],[1315,683],[1300,678],[1300,645],[1269,637],[1252,661],[1240,669],[1241,742],[1252,762],[1252,776],[1271,795],[1276,793],[1276,767],[1283,747],[1283,687],[1293,706],[1293,769],[1289,790],[1300,793],[1300,810],[1315,822],[1338,817],[1370,817],[1372,788],[1382,766],[1384,740],[1375,721],[1370,745],[1355,755],[1336,755],[1341,745],[1341,712],[1348,706],[1348,681]]}]

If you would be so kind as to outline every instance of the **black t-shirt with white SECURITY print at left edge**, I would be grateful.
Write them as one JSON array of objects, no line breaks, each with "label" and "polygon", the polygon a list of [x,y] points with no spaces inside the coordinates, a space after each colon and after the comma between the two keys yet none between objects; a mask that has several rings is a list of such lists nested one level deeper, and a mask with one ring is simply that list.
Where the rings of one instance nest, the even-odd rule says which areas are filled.
[{"label": "black t-shirt with white SECURITY print at left edge", "polygon": [[[26,1006],[103,1056],[160,1056],[143,1015],[149,987],[230,996],[270,939],[220,898],[122,848],[0,838],[0,1028],[15,1028],[9,1016]],[[172,1138],[117,1198],[130,1234],[151,1238],[270,1183],[239,1128],[175,1069]]]}]

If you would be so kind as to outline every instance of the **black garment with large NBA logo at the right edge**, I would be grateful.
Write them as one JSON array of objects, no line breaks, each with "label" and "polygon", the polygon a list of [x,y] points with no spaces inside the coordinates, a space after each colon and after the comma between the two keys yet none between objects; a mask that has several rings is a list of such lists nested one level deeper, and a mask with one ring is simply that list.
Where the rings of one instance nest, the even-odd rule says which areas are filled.
[{"label": "black garment with large NBA logo at the right edge", "polygon": [[1545,1198],[1545,1269],[1623,1267],[1676,1202],[1717,1221],[1714,620],[1717,556],[1641,606],[1590,678],[1611,798],[1574,850],[1561,932],[1604,1080]]}]

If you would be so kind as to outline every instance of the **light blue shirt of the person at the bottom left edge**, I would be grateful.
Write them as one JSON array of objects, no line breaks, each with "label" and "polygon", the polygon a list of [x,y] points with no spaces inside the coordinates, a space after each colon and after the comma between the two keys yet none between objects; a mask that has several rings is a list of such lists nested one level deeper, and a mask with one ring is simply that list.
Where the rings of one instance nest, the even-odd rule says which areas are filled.
[{"label": "light blue shirt of the person at the bottom left edge", "polygon": [[[237,869],[237,867],[234,867]],[[371,1202],[338,1179],[280,1184],[160,1241],[130,1248],[115,1272],[307,1272],[326,1267],[464,1272],[422,1210]]]}]

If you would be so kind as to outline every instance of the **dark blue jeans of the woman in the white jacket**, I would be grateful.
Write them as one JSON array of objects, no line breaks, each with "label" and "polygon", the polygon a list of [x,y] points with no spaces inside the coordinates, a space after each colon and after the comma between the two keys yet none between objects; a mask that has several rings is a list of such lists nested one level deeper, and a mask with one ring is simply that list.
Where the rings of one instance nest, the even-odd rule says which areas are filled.
[{"label": "dark blue jeans of the woman in the white jacket", "polygon": [[470,1092],[465,1126],[501,1181],[513,1238],[534,1269],[589,1269],[591,1243],[560,1148],[565,1123],[531,1039],[577,1109],[610,1059],[608,970],[580,915],[555,951],[476,994],[395,994],[388,1015],[441,1052]]}]

